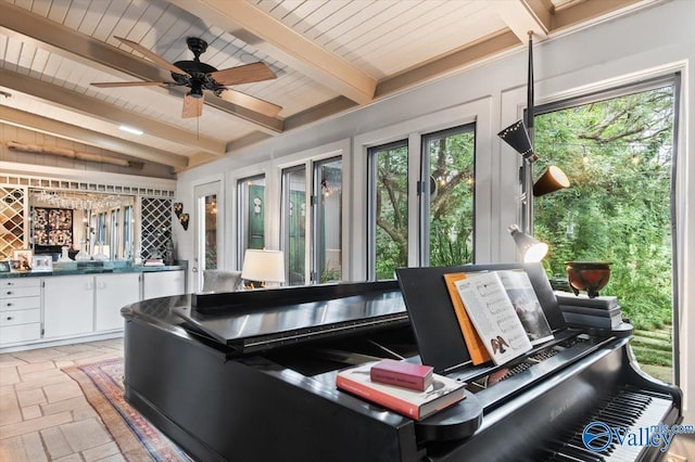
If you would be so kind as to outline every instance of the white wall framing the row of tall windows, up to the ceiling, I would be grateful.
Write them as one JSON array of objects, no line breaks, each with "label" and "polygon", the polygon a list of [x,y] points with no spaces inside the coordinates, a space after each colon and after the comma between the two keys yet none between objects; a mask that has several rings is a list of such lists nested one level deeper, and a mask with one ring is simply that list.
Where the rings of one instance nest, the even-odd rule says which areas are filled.
[{"label": "white wall framing the row of tall windows, up to the ceiling", "polygon": [[[536,43],[534,49],[536,104],[677,70],[682,73],[677,179],[677,257],[681,320],[681,385],[686,390],[685,411],[690,423],[695,421],[695,365],[688,364],[688,358],[690,362],[693,362],[695,356],[695,341],[687,338],[687,333],[695,333],[695,287],[692,287],[695,278],[695,258],[692,258],[695,253],[695,214],[691,210],[695,209],[692,206],[695,204],[695,124],[692,123],[695,114],[695,77],[692,70],[695,63],[694,24],[695,2],[673,0],[606,21],[591,28],[555,37]],[[403,129],[406,132],[402,134],[412,136],[407,131],[410,130],[408,121],[415,119],[428,120],[432,126],[447,121],[452,126],[458,125],[467,121],[471,116],[469,108],[475,105],[483,107],[484,111],[484,114],[473,114],[479,137],[481,132],[496,133],[518,119],[525,106],[526,60],[527,50],[519,47],[516,52],[485,65],[469,68],[456,76],[229,153],[214,164],[181,174],[178,181],[178,200],[190,204],[192,187],[205,182],[206,178],[219,175],[220,171],[228,172],[228,178],[236,177],[238,169],[265,171],[268,182],[277,181],[275,190],[268,188],[268,193],[278,195],[276,216],[279,217],[279,174],[276,170],[277,165],[287,162],[288,155],[308,152],[341,140],[348,142],[352,144],[352,156],[350,152],[343,152],[344,161],[350,166],[344,172],[344,178],[352,184],[361,184],[364,171],[357,168],[362,165],[358,157],[369,142],[368,133],[393,134],[394,130]],[[484,104],[479,104],[481,101],[484,101]],[[458,111],[460,114],[457,114]],[[490,136],[490,139],[484,141],[486,145],[477,152],[478,165],[485,167],[478,169],[476,179],[478,197],[483,197],[483,203],[477,204],[479,240],[476,254],[478,262],[511,261],[515,254],[506,227],[518,221],[516,177],[519,156],[506,145],[503,146],[496,137]],[[226,185],[227,194],[231,194],[232,190],[233,184]],[[355,191],[358,192],[359,189],[355,188]],[[350,194],[350,197],[361,196]],[[228,202],[230,203],[232,201]],[[351,251],[345,253],[345,259],[348,266],[354,262],[344,274],[351,274],[355,279],[362,274],[359,268],[364,266],[364,247],[361,240],[364,235],[363,207],[364,204],[358,200],[344,207],[345,210],[352,211],[350,219],[344,221],[350,227],[348,232],[351,245]],[[273,214],[273,209],[268,208],[267,214]],[[228,217],[226,220],[229,226],[232,224],[231,218]],[[279,218],[268,224],[268,235],[279,242]],[[179,257],[190,258],[191,234],[184,234],[178,228],[176,231]]]}]

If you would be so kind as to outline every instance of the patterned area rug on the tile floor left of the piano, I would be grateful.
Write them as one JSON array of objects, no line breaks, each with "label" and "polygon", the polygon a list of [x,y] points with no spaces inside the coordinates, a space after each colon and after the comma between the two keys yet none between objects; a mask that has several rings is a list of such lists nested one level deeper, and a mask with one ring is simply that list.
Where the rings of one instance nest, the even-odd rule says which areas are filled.
[{"label": "patterned area rug on the tile floor left of the piano", "polygon": [[123,457],[132,462],[186,461],[174,442],[156,429],[123,397],[123,360],[75,365],[63,371],[81,387],[85,397],[113,435]]}]

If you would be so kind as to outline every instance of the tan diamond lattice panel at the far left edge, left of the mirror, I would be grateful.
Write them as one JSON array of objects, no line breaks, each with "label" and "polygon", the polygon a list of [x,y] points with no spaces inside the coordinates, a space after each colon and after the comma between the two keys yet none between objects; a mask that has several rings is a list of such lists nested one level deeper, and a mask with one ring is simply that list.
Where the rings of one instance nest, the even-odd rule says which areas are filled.
[{"label": "tan diamond lattice panel at the far left edge, left of the mirror", "polygon": [[13,249],[26,246],[26,188],[0,184],[0,260],[11,258]]}]

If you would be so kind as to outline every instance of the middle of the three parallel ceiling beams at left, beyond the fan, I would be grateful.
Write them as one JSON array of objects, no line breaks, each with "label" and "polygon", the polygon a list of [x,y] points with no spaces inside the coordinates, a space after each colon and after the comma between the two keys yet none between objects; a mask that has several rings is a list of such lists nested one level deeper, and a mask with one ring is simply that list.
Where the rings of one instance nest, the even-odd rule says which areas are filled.
[{"label": "middle of the three parallel ceiling beams at left, beyond the fan", "polygon": [[225,143],[222,141],[204,137],[197,138],[195,133],[189,133],[179,127],[154,121],[148,117],[118,108],[113,104],[96,98],[86,97],[76,91],[71,91],[8,69],[0,69],[0,81],[3,87],[53,104],[59,104],[88,116],[97,117],[101,120],[116,125],[127,124],[136,126],[146,133],[156,138],[188,146],[195,146],[210,154],[218,156],[225,155]]}]

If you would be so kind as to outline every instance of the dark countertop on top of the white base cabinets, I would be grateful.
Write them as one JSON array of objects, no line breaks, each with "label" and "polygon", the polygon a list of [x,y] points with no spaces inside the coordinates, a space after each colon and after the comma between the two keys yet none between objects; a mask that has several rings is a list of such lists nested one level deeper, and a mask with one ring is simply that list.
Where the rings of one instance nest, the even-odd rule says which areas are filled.
[{"label": "dark countertop on top of the white base cabinets", "polygon": [[186,270],[188,261],[177,261],[175,265],[151,266],[131,265],[129,261],[72,261],[70,264],[53,262],[52,271],[20,271],[0,273],[0,279],[10,278],[47,278],[52,275],[75,274],[112,274],[125,272],[159,272]]}]

